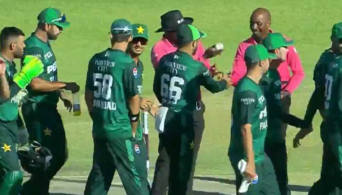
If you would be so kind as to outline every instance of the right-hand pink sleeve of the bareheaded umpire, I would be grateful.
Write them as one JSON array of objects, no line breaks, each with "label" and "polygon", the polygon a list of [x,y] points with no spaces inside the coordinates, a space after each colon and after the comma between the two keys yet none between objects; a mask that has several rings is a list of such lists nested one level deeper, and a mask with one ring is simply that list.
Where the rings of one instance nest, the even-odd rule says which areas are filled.
[{"label": "right-hand pink sleeve of the bareheaded umpire", "polygon": [[289,53],[287,54],[287,62],[290,66],[292,77],[290,78],[289,83],[283,90],[287,90],[290,93],[292,93],[295,89],[299,87],[299,84],[305,76],[303,67],[301,66],[301,62],[295,47],[289,47]]}]

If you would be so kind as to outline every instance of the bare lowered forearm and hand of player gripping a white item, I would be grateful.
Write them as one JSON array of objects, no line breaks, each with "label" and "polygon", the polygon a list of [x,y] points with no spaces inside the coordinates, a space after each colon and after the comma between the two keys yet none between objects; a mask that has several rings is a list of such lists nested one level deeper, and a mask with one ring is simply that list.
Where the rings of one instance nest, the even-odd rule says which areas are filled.
[{"label": "bare lowered forearm and hand of player gripping a white item", "polygon": [[247,156],[247,167],[245,174],[247,174],[247,176],[252,180],[256,175],[256,168],[254,162],[253,137],[251,128],[251,124],[241,125],[242,143]]}]

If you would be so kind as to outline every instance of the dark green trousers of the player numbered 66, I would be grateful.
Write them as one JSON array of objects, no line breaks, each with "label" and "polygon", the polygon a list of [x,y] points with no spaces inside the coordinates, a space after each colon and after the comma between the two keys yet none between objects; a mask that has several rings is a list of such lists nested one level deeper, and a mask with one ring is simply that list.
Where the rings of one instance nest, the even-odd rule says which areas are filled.
[{"label": "dark green trousers of the player numbered 66", "polygon": [[169,195],[186,195],[192,172],[194,134],[192,114],[167,113],[163,140],[170,157]]}]

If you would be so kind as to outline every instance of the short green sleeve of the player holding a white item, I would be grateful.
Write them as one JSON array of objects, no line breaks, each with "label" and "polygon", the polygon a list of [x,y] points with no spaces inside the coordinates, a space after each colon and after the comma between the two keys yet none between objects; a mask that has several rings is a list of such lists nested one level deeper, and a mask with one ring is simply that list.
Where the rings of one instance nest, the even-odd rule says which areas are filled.
[{"label": "short green sleeve of the player holding a white item", "polygon": [[241,92],[238,96],[239,118],[242,125],[253,123],[253,114],[256,108],[257,97],[253,91]]}]

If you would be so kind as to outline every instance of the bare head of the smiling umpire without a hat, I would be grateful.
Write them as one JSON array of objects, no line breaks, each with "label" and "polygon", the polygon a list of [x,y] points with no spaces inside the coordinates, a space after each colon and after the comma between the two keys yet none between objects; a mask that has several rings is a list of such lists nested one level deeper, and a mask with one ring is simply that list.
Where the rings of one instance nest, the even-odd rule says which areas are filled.
[{"label": "bare head of the smiling umpire without a hat", "polygon": [[257,8],[253,11],[249,27],[252,31],[252,37],[257,43],[261,43],[270,31],[271,14],[267,9]]}]

